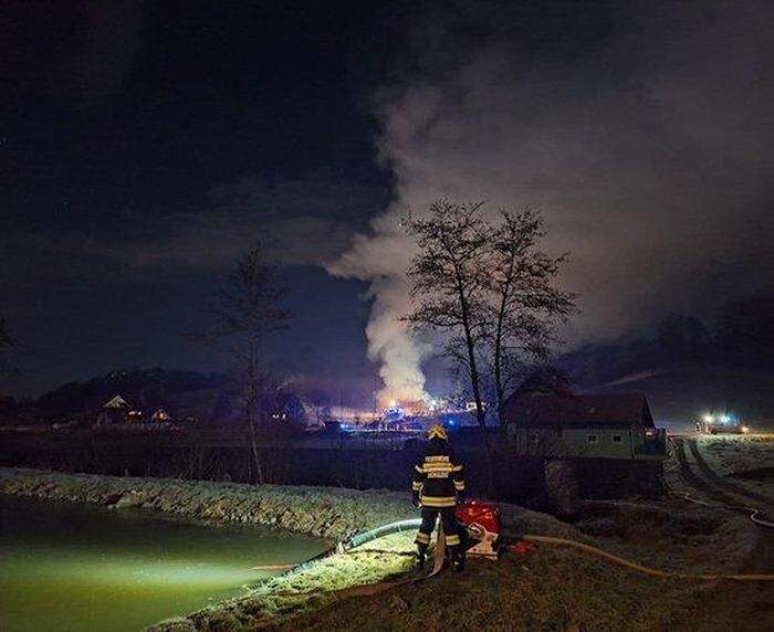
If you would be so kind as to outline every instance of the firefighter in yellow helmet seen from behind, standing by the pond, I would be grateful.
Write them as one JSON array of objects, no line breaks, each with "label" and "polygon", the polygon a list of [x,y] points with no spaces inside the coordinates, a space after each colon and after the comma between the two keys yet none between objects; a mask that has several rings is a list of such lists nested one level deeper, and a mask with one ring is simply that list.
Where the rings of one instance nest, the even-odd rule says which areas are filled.
[{"label": "firefighter in yellow helmet seen from behind, standing by the pond", "polygon": [[464,551],[460,540],[462,533],[454,508],[464,495],[462,464],[449,447],[446,429],[436,423],[428,432],[430,440],[425,454],[414,466],[411,499],[415,507],[421,507],[422,523],[415,540],[417,545],[417,569],[425,566],[425,557],[430,546],[430,535],[438,516],[446,534],[446,545],[451,554],[452,569],[462,570]]}]

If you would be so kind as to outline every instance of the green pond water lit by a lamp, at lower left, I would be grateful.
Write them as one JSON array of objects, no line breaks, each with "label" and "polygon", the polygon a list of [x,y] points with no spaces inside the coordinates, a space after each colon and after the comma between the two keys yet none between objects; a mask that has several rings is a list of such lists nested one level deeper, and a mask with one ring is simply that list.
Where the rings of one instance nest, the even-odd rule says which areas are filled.
[{"label": "green pond water lit by a lamp, at lower left", "polygon": [[0,630],[139,630],[244,592],[323,540],[0,496]]}]

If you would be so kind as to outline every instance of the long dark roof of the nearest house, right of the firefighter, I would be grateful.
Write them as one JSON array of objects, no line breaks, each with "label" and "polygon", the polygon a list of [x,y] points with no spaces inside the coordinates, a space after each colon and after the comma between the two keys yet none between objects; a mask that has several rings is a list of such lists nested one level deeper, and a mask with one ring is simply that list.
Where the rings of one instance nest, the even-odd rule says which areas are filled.
[{"label": "long dark roof of the nearest house, right of the firefighter", "polygon": [[653,425],[648,400],[641,393],[524,394],[506,402],[504,417],[509,423],[527,428]]}]

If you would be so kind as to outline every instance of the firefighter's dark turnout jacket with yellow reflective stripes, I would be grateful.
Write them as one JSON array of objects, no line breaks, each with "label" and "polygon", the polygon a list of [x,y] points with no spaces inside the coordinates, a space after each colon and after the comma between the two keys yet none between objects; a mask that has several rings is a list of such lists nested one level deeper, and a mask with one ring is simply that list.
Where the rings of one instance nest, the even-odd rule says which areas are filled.
[{"label": "firefighter's dark turnout jacket with yellow reflective stripes", "polygon": [[422,507],[454,507],[464,494],[462,463],[446,441],[433,439],[414,466],[411,494]]}]

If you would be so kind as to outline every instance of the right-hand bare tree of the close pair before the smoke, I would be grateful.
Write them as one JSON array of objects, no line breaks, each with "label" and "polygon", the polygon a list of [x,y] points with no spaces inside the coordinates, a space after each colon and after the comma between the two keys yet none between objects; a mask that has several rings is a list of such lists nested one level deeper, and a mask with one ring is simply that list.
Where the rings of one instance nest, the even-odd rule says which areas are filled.
[{"label": "right-hand bare tree of the close pair before the smoke", "polygon": [[491,305],[494,310],[489,344],[498,417],[527,366],[545,362],[561,343],[556,326],[575,310],[575,297],[555,286],[566,254],[551,257],[537,249],[545,236],[543,218],[526,209],[501,212],[492,232]]}]

